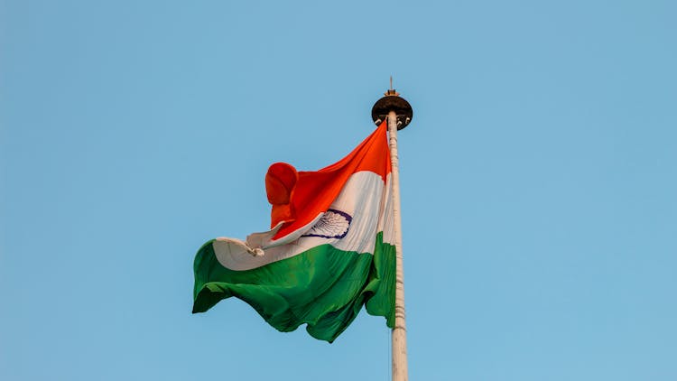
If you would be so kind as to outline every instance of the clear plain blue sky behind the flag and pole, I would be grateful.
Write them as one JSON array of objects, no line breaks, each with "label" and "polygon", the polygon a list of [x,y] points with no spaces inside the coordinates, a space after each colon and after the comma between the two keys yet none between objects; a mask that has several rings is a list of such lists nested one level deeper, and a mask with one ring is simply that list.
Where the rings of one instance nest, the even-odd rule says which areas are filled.
[{"label": "clear plain blue sky behind the flag and pole", "polygon": [[264,173],[394,76],[413,380],[677,379],[677,3],[0,1],[0,379],[387,380],[244,302],[191,315]]}]

